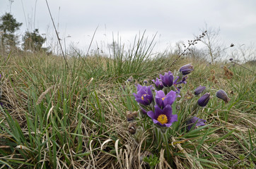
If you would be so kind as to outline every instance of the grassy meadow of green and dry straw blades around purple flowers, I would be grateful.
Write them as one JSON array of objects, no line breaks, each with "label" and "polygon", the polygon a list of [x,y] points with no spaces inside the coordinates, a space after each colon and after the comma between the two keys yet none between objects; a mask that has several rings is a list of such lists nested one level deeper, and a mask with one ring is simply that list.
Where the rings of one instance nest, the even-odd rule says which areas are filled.
[{"label": "grassy meadow of green and dry straw blades around purple flowers", "polygon": [[[129,51],[116,46],[110,57],[95,52],[66,61],[44,52],[1,56],[0,168],[255,168],[255,65],[151,57],[151,47],[139,39]],[[154,86],[159,74],[187,63],[194,70],[173,104],[178,121],[162,142],[139,112],[136,84]],[[186,130],[199,85],[211,94],[197,108],[206,122]],[[228,103],[215,96],[219,89]],[[134,111],[130,123],[127,112]]]}]

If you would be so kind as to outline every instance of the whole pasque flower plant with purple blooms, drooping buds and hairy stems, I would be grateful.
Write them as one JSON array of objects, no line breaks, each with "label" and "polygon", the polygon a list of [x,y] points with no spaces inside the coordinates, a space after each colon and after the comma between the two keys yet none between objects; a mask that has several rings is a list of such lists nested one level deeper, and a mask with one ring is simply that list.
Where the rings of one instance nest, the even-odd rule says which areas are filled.
[{"label": "whole pasque flower plant with purple blooms, drooping buds and hairy stems", "polygon": [[[190,90],[187,90],[187,94],[182,91],[185,89],[182,86],[187,84],[188,75],[193,70],[193,66],[187,64],[183,65],[178,72],[168,71],[163,75],[160,74],[156,80],[151,80],[154,87],[145,80],[143,82],[145,86],[136,84],[136,93],[133,95],[140,110],[127,112],[128,129],[131,134],[134,134],[134,140],[138,140],[141,133],[151,129],[153,124],[156,147],[160,151],[165,146],[166,159],[169,161],[171,158],[170,136],[179,132],[182,135],[184,132],[206,125],[206,120],[198,118],[197,113],[207,106],[213,89],[200,85],[194,89],[194,95]],[[223,90],[216,92],[216,97],[225,103],[230,101]],[[141,124],[140,128],[136,128],[136,122],[134,122],[136,115],[139,115],[140,120],[137,122]],[[204,127],[201,127],[201,130]]]}]

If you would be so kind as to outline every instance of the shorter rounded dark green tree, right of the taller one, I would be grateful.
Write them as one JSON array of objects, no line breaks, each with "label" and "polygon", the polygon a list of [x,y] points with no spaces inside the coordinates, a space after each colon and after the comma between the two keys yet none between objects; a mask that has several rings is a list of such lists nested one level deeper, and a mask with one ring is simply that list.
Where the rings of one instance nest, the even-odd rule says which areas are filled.
[{"label": "shorter rounded dark green tree, right of the taller one", "polygon": [[40,51],[41,49],[45,50],[45,48],[42,48],[42,44],[45,43],[46,38],[39,34],[38,29],[35,29],[33,32],[26,31],[22,39],[22,46],[25,51]]}]

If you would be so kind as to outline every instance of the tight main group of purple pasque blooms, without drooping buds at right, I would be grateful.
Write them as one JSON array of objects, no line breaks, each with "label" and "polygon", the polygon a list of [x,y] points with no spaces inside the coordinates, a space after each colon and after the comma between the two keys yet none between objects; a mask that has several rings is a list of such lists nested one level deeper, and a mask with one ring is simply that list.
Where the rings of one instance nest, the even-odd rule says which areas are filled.
[{"label": "tight main group of purple pasque blooms, without drooping buds at right", "polygon": [[157,127],[170,127],[178,120],[178,115],[173,115],[172,105],[180,96],[180,84],[187,83],[187,75],[192,70],[193,66],[187,64],[180,68],[176,77],[170,71],[160,74],[159,78],[152,80],[155,87],[136,85],[135,100],[141,107],[141,112],[148,115]]}]

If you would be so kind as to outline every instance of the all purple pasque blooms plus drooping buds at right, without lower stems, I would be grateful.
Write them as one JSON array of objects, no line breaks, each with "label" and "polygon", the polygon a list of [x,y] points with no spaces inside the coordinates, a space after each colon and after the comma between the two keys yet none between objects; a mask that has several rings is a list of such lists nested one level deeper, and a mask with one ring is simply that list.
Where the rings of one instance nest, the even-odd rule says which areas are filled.
[{"label": "all purple pasque blooms plus drooping buds at right, without lower stems", "polygon": [[[187,84],[187,75],[192,73],[193,70],[193,66],[187,64],[183,65],[178,73],[168,71],[168,73],[164,73],[164,75],[160,74],[159,77],[156,77],[156,80],[152,80],[154,87],[152,85],[141,86],[140,84],[136,84],[137,92],[133,95],[140,106],[139,113],[142,113],[144,117],[146,115],[151,118],[151,121],[156,127],[172,126],[173,123],[178,121],[178,115],[173,114],[173,108],[176,108],[173,106],[173,103],[181,98],[180,89],[182,89],[182,84]],[[149,82],[144,82],[144,84],[149,84]],[[191,130],[193,125],[205,125],[206,120],[199,119],[195,115],[199,108],[205,107],[211,99],[209,89],[202,85],[194,89],[194,96],[194,98],[199,96],[197,102],[194,102],[195,108],[191,111],[192,113],[183,115],[185,121],[179,122],[180,124],[185,124],[187,130]],[[223,99],[225,103],[228,103],[230,100],[223,90],[216,92],[216,96],[219,99]]]}]

